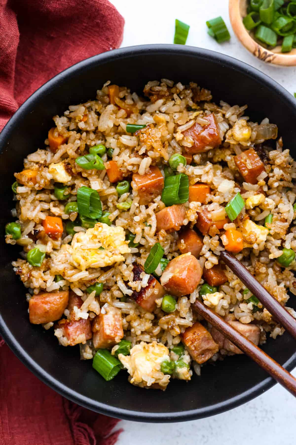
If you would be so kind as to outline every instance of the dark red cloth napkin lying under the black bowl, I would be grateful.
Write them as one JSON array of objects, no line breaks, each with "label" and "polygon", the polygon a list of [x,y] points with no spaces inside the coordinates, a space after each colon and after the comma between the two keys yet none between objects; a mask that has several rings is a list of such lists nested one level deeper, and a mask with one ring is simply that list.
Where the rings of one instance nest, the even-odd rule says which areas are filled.
[{"label": "dark red cloth napkin lying under the black bowl", "polygon": [[[0,130],[63,69],[118,48],[124,20],[107,0],[0,0]],[[1,346],[2,344],[2,346]],[[66,400],[0,340],[0,445],[113,445],[118,420]]]}]

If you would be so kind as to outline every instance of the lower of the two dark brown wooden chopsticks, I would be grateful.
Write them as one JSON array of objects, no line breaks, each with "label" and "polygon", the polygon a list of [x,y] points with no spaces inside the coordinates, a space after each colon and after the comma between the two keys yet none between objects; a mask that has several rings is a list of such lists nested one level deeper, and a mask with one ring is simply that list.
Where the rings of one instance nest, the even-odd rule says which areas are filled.
[{"label": "lower of the two dark brown wooden chopsticks", "polygon": [[265,354],[254,343],[248,340],[241,332],[238,332],[216,312],[205,306],[199,300],[192,305],[193,309],[207,320],[214,328],[220,331],[225,337],[232,341],[241,351],[250,356],[261,368],[270,374],[274,380],[288,389],[291,394],[296,396],[296,378],[286,371],[279,363]]}]

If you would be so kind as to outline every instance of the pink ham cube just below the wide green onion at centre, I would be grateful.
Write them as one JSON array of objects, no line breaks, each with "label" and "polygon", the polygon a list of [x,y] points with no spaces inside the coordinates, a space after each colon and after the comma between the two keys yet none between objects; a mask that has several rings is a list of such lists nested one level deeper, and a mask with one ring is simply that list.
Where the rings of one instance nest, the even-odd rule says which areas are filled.
[{"label": "pink ham cube just below the wide green onion at centre", "polygon": [[180,230],[185,218],[186,209],[183,204],[165,207],[156,214],[156,231],[165,230],[169,233]]}]

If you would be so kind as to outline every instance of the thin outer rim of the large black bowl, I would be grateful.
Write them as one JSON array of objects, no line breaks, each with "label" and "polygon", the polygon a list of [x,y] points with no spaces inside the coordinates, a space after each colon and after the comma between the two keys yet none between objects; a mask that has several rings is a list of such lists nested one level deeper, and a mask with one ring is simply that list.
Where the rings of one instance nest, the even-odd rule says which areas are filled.
[{"label": "thin outer rim of the large black bowl", "polygon": [[[296,107],[296,99],[289,93],[286,89],[284,89],[281,85],[279,85],[272,78],[257,70],[256,68],[246,64],[245,62],[239,61],[225,54],[217,53],[216,51],[211,51],[208,49],[202,49],[193,46],[182,46],[175,44],[146,44],[146,45],[136,45],[129,46],[121,49],[114,49],[107,53],[98,54],[93,57],[89,57],[71,67],[65,69],[61,73],[57,74],[55,77],[47,81],[44,85],[42,85],[39,89],[36,90],[20,108],[16,111],[16,113],[10,118],[8,123],[5,125],[4,129],[0,133],[0,146],[3,145],[4,141],[7,140],[10,134],[13,132],[14,127],[17,125],[18,121],[22,118],[23,113],[28,113],[32,109],[34,109],[34,105],[36,101],[39,100],[39,97],[47,94],[51,91],[51,89],[55,88],[56,85],[59,84],[60,81],[64,81],[67,78],[71,78],[80,72],[83,72],[85,69],[89,69],[92,66],[99,65],[101,62],[107,62],[115,59],[124,58],[127,56],[137,56],[143,55],[143,53],[149,52],[152,53],[171,53],[174,56],[178,56],[178,54],[186,54],[189,56],[198,56],[200,59],[212,59],[217,61],[221,65],[226,65],[233,69],[234,72],[243,73],[249,77],[255,77],[257,81],[262,83],[265,88],[276,90],[277,94],[284,97],[287,105],[291,107]],[[37,364],[32,357],[28,355],[27,352],[21,347],[20,343],[16,340],[16,338],[10,332],[8,326],[6,325],[4,319],[0,315],[0,333],[3,336],[5,342],[12,349],[12,351],[16,354],[16,356],[22,361],[22,363],[32,371],[40,380],[42,380],[49,387],[59,392],[62,396],[67,399],[84,406],[87,409],[91,409],[93,411],[106,414],[112,417],[118,417],[120,419],[126,419],[131,421],[146,421],[146,422],[176,422],[176,421],[189,421],[198,418],[209,417],[229,409],[235,408],[247,401],[250,401],[254,397],[259,396],[263,392],[267,391],[274,384],[276,384],[275,380],[271,377],[265,378],[260,384],[255,385],[249,390],[239,394],[238,396],[230,398],[228,401],[224,401],[221,403],[217,403],[215,405],[211,405],[208,408],[201,409],[193,409],[189,411],[183,412],[174,412],[174,413],[149,413],[149,412],[140,412],[140,411],[130,411],[128,409],[119,409],[115,407],[111,407],[110,405],[106,405],[97,401],[93,401],[88,397],[79,394],[78,392],[71,390],[66,385],[61,384],[58,380],[53,378],[48,372],[44,371],[44,369]],[[288,371],[291,371],[296,366],[296,352],[292,354],[292,356],[284,363],[284,368]]]}]

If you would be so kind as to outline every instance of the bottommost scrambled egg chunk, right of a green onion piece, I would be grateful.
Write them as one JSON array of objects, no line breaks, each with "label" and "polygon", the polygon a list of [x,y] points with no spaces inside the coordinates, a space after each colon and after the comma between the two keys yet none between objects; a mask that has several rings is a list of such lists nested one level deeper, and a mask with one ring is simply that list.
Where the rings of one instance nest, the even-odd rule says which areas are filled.
[{"label": "bottommost scrambled egg chunk, right of a green onion piece", "polygon": [[130,350],[129,356],[118,354],[118,359],[127,369],[130,383],[134,385],[165,390],[170,382],[170,375],[160,369],[164,360],[170,360],[169,350],[162,343],[153,341],[147,344],[141,341]]}]

